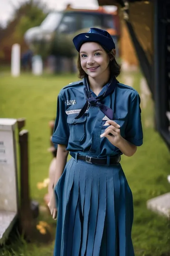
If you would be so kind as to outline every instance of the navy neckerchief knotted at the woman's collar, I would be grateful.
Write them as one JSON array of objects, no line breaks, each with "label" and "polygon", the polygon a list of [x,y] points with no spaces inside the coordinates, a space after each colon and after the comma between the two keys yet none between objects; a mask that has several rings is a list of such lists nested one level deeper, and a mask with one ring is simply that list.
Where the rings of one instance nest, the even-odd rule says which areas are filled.
[{"label": "navy neckerchief knotted at the woman's collar", "polygon": [[113,120],[113,110],[106,105],[101,104],[101,100],[103,100],[108,95],[112,94],[114,92],[115,86],[117,84],[118,80],[112,76],[108,82],[108,86],[105,89],[104,93],[93,97],[91,96],[89,81],[87,77],[84,77],[83,84],[84,84],[84,94],[86,97],[86,103],[82,107],[80,113],[75,117],[75,119],[78,119],[82,117],[82,115],[86,112],[86,110],[89,108],[90,105],[98,107],[110,120]]}]

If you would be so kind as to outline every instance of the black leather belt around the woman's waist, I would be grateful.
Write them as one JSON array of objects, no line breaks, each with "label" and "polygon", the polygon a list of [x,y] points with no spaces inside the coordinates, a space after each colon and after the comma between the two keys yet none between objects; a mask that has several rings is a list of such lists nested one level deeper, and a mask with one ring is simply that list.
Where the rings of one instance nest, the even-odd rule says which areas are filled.
[{"label": "black leather belt around the woman's waist", "polygon": [[[70,152],[70,155],[74,158],[76,158],[76,154],[73,152]],[[83,156],[80,154],[77,154],[77,160],[81,160],[87,163],[94,163],[97,165],[107,165],[108,159],[105,158],[96,158],[96,157],[90,157],[90,156]],[[108,165],[114,165],[116,163],[119,163],[121,161],[121,155],[110,157]]]}]

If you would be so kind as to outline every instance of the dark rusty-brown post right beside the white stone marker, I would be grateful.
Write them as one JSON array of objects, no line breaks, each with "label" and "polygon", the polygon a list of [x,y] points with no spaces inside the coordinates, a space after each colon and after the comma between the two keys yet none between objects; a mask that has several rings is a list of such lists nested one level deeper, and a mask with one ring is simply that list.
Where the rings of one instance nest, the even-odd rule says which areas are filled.
[{"label": "dark rusty-brown post right beside the white stone marker", "polygon": [[19,132],[20,145],[20,224],[26,237],[31,237],[32,211],[29,195],[28,131]]}]

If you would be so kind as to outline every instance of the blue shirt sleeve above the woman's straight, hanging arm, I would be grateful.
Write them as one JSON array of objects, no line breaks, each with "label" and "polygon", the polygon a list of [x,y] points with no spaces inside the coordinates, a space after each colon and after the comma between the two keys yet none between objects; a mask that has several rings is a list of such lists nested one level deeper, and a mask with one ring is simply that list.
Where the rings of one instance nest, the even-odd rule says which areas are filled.
[{"label": "blue shirt sleeve above the woman's straight, hanging arm", "polygon": [[69,127],[67,124],[67,114],[65,112],[65,100],[61,93],[57,99],[57,116],[52,135],[52,142],[57,148],[57,144],[67,145],[69,141]]}]

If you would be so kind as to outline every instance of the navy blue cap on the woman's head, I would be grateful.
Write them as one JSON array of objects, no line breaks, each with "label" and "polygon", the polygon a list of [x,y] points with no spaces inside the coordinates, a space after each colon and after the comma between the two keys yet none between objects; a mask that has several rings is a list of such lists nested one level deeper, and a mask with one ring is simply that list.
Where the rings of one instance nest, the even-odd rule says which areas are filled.
[{"label": "navy blue cap on the woman's head", "polygon": [[110,34],[100,28],[90,28],[89,32],[81,33],[73,39],[73,43],[78,52],[80,51],[81,45],[85,42],[97,42],[108,51],[115,49],[115,44]]}]

